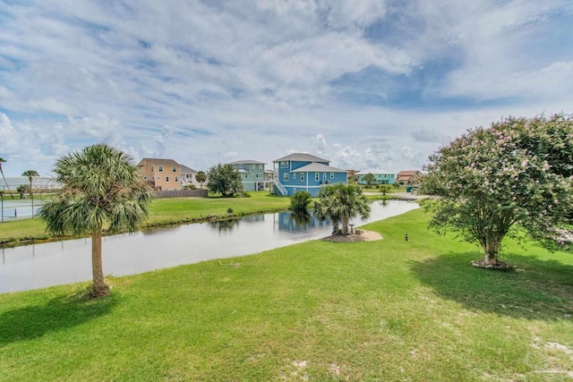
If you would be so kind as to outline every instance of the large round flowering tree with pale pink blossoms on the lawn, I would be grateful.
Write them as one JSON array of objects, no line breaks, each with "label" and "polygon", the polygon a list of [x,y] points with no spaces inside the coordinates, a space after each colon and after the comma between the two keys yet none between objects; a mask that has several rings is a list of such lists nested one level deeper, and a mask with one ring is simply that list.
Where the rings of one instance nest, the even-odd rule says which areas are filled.
[{"label": "large round flowering tree with pale pink blossoms on the lawn", "polygon": [[478,127],[432,154],[430,162],[421,187],[439,197],[428,206],[434,212],[430,225],[479,243],[479,265],[499,265],[500,243],[508,234],[554,242],[570,214],[571,117],[508,118]]}]

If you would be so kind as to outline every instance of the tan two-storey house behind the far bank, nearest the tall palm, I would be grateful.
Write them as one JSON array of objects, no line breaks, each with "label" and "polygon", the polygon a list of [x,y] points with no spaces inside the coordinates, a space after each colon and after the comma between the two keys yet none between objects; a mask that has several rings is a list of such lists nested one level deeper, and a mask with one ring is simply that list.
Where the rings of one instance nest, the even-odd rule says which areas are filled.
[{"label": "tan two-storey house behind the far bank, nearest the tall palm", "polygon": [[181,190],[181,165],[173,159],[144,157],[138,164],[143,180],[158,191]]}]

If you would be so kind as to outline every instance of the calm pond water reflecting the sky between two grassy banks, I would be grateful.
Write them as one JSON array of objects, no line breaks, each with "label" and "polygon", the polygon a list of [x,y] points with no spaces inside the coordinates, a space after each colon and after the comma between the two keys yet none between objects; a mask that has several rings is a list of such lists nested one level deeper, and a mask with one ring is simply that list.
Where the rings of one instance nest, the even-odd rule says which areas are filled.
[{"label": "calm pond water reflecting the sky between two grassy banks", "polygon": [[[372,203],[355,226],[418,208],[413,202]],[[104,273],[135,275],[209,259],[226,259],[329,236],[329,222],[300,222],[288,212],[227,222],[181,225],[103,238]],[[91,240],[48,242],[0,250],[0,293],[91,280]],[[228,260],[227,260],[228,261]]]}]

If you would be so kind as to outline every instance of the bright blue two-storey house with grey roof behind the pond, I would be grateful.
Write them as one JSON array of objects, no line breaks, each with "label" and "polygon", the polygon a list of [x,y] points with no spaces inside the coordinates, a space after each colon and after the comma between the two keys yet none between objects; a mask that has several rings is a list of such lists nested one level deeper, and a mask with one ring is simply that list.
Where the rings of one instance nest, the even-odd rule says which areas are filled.
[{"label": "bright blue two-storey house with grey roof behind the pond", "polygon": [[296,191],[310,192],[316,196],[321,187],[329,184],[347,183],[346,170],[329,166],[330,161],[311,154],[295,153],[273,161],[278,182],[274,193],[283,196],[295,195]]}]

